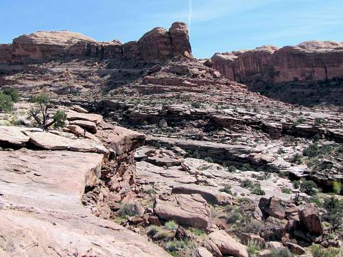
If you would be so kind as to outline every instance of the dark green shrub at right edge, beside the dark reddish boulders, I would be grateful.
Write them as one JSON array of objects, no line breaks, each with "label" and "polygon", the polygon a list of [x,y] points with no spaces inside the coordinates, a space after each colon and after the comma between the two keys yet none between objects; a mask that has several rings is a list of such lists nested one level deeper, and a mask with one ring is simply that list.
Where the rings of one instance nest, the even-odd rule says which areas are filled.
[{"label": "dark green shrub at right edge, beside the dark reddish boulders", "polygon": [[331,196],[324,199],[324,208],[327,210],[326,219],[331,225],[331,231],[339,230],[342,226],[343,200]]}]

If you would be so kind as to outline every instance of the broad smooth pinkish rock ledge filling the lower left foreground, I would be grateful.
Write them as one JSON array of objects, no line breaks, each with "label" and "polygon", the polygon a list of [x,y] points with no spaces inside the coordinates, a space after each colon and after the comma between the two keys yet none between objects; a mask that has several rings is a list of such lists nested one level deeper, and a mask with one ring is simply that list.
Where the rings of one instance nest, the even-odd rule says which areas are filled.
[{"label": "broad smooth pinkish rock ledge filling the lower left foreground", "polygon": [[82,206],[102,159],[73,151],[0,151],[0,255],[169,256]]}]

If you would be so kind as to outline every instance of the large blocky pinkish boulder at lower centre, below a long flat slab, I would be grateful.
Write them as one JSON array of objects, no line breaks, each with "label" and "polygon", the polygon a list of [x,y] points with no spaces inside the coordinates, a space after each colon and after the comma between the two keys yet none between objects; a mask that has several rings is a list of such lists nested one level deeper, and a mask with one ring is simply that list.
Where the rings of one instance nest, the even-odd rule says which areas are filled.
[{"label": "large blocky pinkish boulder at lower centre, below a long flat slab", "polygon": [[211,228],[211,211],[201,195],[171,195],[169,199],[155,199],[154,213],[159,219],[176,221],[195,228]]}]

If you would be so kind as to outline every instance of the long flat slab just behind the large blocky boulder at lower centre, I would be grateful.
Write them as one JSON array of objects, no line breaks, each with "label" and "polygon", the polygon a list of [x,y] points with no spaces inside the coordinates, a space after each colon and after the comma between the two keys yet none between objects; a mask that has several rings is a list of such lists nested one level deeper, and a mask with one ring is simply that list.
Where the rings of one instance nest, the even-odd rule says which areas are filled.
[{"label": "long flat slab just behind the large blocky boulder at lower centre", "polygon": [[210,204],[221,204],[226,205],[230,204],[230,195],[227,193],[211,190],[210,188],[206,188],[205,186],[198,186],[198,185],[180,185],[174,186],[171,191],[174,194],[200,194],[206,201]]}]

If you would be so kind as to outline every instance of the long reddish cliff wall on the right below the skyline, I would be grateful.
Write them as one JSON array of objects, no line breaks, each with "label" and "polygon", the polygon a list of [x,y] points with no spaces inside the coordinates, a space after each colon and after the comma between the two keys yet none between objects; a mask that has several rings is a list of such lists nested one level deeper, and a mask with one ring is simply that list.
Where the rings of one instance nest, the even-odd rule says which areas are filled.
[{"label": "long reddish cliff wall on the right below the skyline", "polygon": [[308,41],[278,49],[215,53],[213,66],[239,82],[292,82],[342,77],[343,42]]}]

